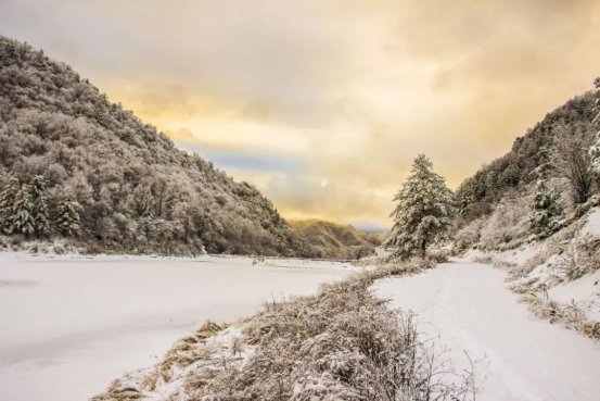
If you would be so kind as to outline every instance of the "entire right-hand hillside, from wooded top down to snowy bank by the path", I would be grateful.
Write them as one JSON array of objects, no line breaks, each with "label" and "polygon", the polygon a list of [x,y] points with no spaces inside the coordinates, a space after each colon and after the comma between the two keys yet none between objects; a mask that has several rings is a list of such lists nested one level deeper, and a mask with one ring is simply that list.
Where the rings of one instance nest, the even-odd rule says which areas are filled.
[{"label": "entire right-hand hillside, from wooded top down to snowy bank by the path", "polygon": [[457,192],[456,251],[495,263],[539,317],[600,338],[600,89],[549,113]]}]

